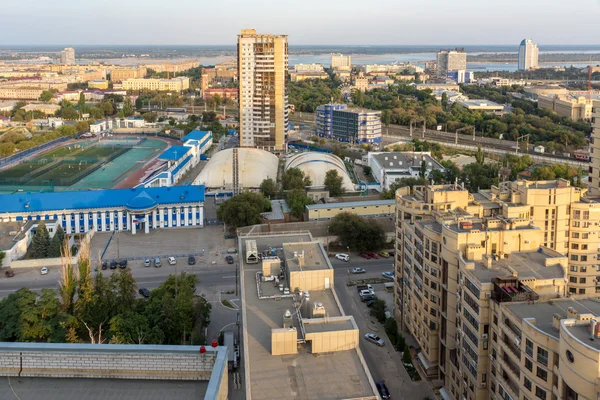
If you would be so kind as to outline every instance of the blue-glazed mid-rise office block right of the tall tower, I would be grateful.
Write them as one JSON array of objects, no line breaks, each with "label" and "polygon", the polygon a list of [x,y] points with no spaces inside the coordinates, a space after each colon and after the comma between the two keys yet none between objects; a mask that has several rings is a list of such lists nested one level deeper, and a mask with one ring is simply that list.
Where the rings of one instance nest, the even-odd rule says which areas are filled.
[{"label": "blue-glazed mid-rise office block right of the tall tower", "polygon": [[325,104],[317,107],[316,125],[319,137],[354,144],[381,143],[381,111]]}]

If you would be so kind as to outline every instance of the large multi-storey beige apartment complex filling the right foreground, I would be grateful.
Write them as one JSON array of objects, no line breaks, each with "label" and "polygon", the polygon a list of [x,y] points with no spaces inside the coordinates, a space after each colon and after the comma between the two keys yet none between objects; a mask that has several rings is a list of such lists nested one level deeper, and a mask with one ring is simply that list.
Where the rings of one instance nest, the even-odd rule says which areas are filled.
[{"label": "large multi-storey beige apartment complex filling the right foreground", "polygon": [[[395,316],[419,344],[417,368],[444,382],[441,397],[583,396],[569,363],[558,361],[563,328],[549,332],[558,317],[545,310],[600,293],[599,200],[557,180],[475,194],[416,186],[399,189],[396,203]],[[556,312],[574,320],[568,326],[583,323],[565,310]],[[595,384],[598,365],[594,371]]]}]

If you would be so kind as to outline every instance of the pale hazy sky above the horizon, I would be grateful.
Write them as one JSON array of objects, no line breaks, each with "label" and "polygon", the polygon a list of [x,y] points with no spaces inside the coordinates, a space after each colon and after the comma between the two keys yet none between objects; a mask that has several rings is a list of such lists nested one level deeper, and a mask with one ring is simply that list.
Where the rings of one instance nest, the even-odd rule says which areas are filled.
[{"label": "pale hazy sky above the horizon", "polygon": [[600,0],[7,0],[0,45],[600,44]]}]

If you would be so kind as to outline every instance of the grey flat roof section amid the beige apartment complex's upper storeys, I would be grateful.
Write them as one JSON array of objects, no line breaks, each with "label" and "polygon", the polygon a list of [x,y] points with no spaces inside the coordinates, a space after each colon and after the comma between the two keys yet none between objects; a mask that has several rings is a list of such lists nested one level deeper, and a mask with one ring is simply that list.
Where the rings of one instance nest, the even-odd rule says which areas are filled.
[{"label": "grey flat roof section amid the beige apartment complex's upper storeys", "polygon": [[[564,256],[566,257],[566,256]],[[492,267],[487,268],[485,260],[474,261],[475,268],[469,270],[480,282],[491,282],[493,278],[501,278],[518,273],[519,279],[562,279],[565,276],[559,264],[546,266],[548,258],[557,258],[555,255],[539,253],[537,251],[515,252],[506,258],[496,258]]]}]

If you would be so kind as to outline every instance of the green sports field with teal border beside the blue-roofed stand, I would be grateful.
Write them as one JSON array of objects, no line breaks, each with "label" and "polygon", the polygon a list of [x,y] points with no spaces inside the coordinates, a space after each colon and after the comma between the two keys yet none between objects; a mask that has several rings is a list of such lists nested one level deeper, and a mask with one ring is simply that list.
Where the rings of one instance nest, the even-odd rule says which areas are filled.
[{"label": "green sports field with teal border beside the blue-roofed stand", "polygon": [[0,170],[0,192],[110,189],[168,145],[145,137],[70,141]]}]

